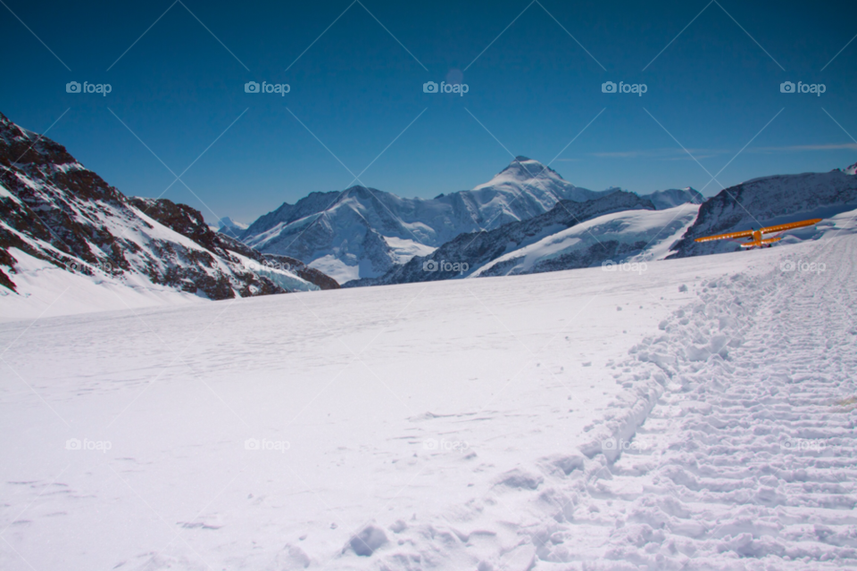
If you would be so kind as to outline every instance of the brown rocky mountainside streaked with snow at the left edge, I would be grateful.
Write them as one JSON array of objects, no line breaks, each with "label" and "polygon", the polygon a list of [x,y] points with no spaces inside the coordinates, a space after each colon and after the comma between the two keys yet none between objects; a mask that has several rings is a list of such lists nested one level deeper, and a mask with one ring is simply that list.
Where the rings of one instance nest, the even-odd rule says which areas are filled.
[{"label": "brown rocky mountainside streaked with snow at the left edge", "polygon": [[62,145],[0,114],[3,297],[105,287],[220,300],[319,289],[286,269],[254,271],[265,260],[188,206],[126,197]]}]

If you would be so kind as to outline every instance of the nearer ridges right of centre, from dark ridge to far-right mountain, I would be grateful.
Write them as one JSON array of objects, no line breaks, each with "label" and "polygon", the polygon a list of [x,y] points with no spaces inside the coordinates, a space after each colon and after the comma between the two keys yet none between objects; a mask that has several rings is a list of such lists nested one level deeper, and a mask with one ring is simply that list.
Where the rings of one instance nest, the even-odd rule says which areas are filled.
[{"label": "nearer ridges right of centre, from dark ridge to far-right mountain", "polygon": [[[732,252],[739,249],[735,243],[699,244],[694,238],[854,211],[854,170],[756,178],[704,202],[692,188],[645,196],[614,191],[583,203],[562,201],[530,219],[462,234],[382,276],[344,286],[508,276],[605,264],[611,268],[626,262]],[[817,237],[823,231],[805,228],[789,233],[786,241]]]}]

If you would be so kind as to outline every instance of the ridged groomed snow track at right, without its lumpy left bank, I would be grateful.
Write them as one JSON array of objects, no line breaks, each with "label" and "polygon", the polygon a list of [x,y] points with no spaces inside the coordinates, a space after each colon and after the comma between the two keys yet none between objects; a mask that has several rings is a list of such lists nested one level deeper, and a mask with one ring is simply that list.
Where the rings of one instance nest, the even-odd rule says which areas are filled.
[{"label": "ridged groomed snow track at right, without its lumpy left bank", "polygon": [[830,247],[824,271],[709,282],[637,347],[665,390],[587,508],[616,568],[857,566],[857,252]]}]

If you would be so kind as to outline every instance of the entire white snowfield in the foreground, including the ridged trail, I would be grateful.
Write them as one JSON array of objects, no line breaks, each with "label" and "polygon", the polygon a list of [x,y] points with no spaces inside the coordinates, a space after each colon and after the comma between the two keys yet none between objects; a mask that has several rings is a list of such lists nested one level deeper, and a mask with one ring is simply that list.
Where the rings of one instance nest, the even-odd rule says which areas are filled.
[{"label": "entire white snowfield in the foreground, including the ridged trail", "polygon": [[854,566],[855,257],[2,324],[0,568]]}]

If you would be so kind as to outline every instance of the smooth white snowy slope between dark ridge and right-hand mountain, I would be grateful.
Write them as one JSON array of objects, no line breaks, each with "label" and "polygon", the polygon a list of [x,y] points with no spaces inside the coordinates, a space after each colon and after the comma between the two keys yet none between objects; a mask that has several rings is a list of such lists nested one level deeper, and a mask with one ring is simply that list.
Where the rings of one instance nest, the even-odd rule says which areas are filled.
[{"label": "smooth white snowy slope between dark ridge and right-hand mountain", "polygon": [[621,211],[589,219],[509,252],[476,269],[471,277],[532,274],[557,269],[662,260],[694,223],[699,206],[659,211]]}]

